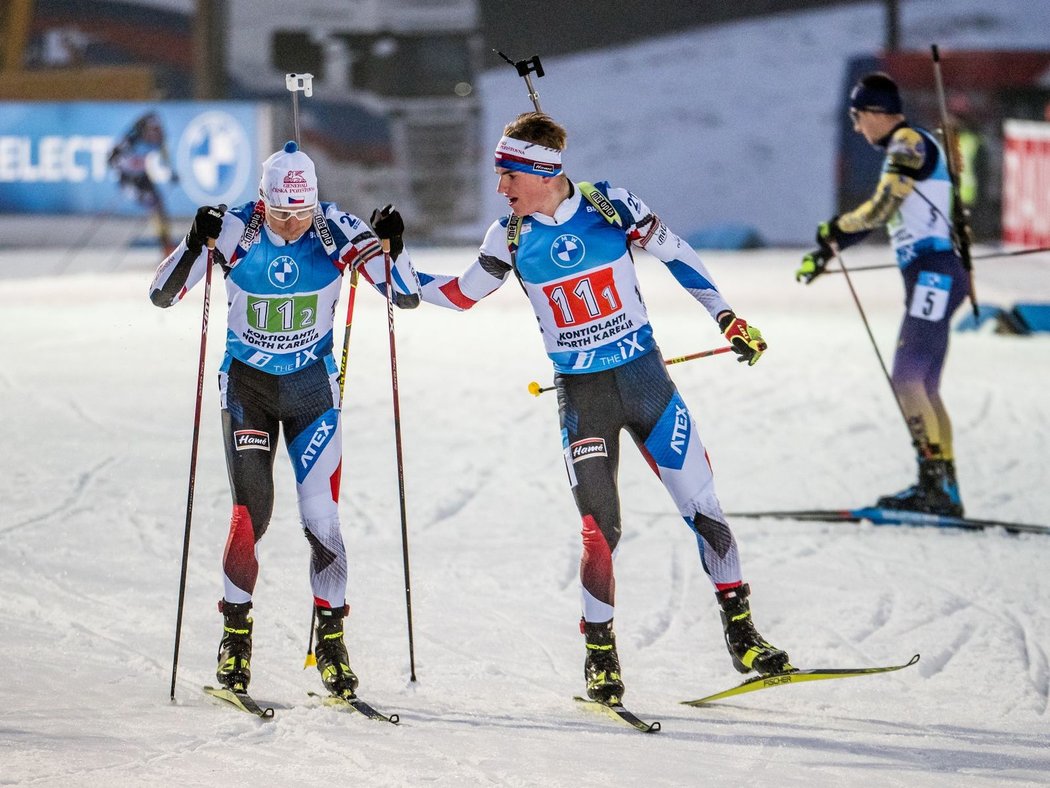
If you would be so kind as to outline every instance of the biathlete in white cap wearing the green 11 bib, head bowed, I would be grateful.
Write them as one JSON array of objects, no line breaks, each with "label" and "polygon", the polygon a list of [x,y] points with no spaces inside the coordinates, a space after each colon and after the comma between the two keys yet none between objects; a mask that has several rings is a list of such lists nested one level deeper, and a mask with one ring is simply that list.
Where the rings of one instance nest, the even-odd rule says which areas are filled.
[{"label": "biathlete in white cap wearing the green 11 bib, head bowed", "polygon": [[[257,543],[273,511],[273,462],[281,428],[295,471],[302,527],[312,552],[317,668],[334,693],[353,691],[343,644],[346,553],[339,525],[342,469],[339,369],[332,355],[341,277],[360,270],[385,295],[380,239],[390,239],[393,300],[419,304],[419,281],[403,248],[404,224],[391,206],[372,225],[318,202],[311,159],[294,142],[262,163],[259,200],[202,207],[186,239],[158,269],[150,300],[176,304],[205,275],[208,239],[226,281],[226,356],[219,371],[223,434],[233,515],[223,557],[224,636],[218,681],[247,689],[251,678],[252,592]],[[378,237],[377,237],[378,235]]]}]

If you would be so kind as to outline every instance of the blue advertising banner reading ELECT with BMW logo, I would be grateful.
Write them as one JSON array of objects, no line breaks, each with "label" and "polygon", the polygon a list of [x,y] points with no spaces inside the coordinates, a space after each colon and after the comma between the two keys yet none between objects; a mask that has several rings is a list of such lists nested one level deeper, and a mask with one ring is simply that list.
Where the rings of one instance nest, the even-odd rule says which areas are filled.
[{"label": "blue advertising banner reading ELECT with BMW logo", "polygon": [[270,154],[266,104],[0,102],[0,212],[149,212],[237,205]]}]

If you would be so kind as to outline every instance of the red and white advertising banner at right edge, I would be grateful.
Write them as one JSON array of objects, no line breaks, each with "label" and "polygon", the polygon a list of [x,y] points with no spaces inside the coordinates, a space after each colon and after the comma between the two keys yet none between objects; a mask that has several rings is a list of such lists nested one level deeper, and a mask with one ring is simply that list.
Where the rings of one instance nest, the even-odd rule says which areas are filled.
[{"label": "red and white advertising banner at right edge", "polygon": [[1003,124],[1003,242],[1050,246],[1050,123]]}]

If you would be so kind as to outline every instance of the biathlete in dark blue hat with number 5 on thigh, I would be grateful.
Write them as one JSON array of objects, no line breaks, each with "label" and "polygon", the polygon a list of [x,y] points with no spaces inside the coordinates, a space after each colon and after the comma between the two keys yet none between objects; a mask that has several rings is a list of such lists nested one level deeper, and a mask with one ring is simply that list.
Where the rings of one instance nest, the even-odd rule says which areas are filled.
[{"label": "biathlete in dark blue hat with number 5 on thigh", "polygon": [[878,505],[962,517],[951,421],[940,389],[951,315],[969,293],[969,281],[951,242],[944,148],[929,131],[908,123],[897,83],[885,74],[869,74],[857,83],[849,118],[857,133],[885,152],[882,174],[869,200],[820,224],[819,248],[802,258],[795,278],[810,284],[835,249],[885,225],[904,277],[905,306],[890,377],[911,430],[919,481],[880,498]]}]

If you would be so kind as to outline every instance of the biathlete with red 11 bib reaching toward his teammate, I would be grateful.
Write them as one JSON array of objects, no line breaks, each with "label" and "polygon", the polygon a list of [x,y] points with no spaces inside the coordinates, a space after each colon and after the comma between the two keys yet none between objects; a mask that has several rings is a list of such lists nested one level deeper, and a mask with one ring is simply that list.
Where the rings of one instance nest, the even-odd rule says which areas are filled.
[{"label": "biathlete with red 11 bib reaching toward his teammate", "polygon": [[617,703],[624,693],[612,626],[623,429],[696,534],[736,668],[790,669],[788,655],[755,630],[736,540],[715,496],[696,426],[653,337],[631,247],[664,262],[718,322],[739,360],[754,365],[765,344],[733,313],[693,249],[637,196],[608,183],[573,183],[564,174],[565,139],[565,129],[541,112],[526,112],[507,125],[496,149],[496,172],[510,215],[492,223],[478,260],[462,275],[420,272],[419,277],[423,300],[465,310],[513,274],[536,312],[554,364],[565,464],[583,519],[581,629],[588,696]]}]

